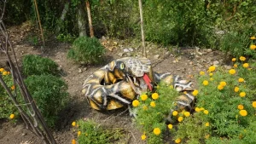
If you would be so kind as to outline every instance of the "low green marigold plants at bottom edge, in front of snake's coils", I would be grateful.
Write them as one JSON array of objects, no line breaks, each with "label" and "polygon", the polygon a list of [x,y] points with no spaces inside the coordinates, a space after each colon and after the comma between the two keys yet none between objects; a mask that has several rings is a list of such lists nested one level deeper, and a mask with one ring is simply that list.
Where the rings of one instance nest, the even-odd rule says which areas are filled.
[{"label": "low green marigold plants at bottom edge, in front of snake's coils", "polygon": [[[105,127],[102,124],[96,124],[92,120],[79,120],[78,124],[72,124],[77,130],[79,143],[126,143],[129,137],[125,137],[125,130],[120,128]],[[75,141],[75,140],[73,140]]]}]

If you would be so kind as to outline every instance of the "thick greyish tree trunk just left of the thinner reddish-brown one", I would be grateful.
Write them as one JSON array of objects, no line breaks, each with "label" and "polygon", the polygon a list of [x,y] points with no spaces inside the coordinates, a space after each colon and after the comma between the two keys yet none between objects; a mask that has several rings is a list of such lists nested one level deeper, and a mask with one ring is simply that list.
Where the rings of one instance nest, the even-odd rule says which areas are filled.
[{"label": "thick greyish tree trunk just left of the thinner reddish-brown one", "polygon": [[85,11],[84,11],[84,1],[79,3],[78,8],[78,25],[79,25],[79,37],[86,36],[86,21],[85,21]]}]

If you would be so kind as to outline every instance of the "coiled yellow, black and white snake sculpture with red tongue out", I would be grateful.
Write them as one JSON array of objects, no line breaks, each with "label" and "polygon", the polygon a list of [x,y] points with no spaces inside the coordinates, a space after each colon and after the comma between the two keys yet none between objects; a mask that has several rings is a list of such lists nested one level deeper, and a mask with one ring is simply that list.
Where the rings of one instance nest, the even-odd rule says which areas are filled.
[{"label": "coiled yellow, black and white snake sculpture with red tongue out", "polygon": [[[162,81],[172,85],[177,91],[193,91],[190,81],[182,80],[171,73],[157,73],[152,70],[151,62],[147,58],[125,57],[113,60],[94,72],[84,81],[82,93],[96,110],[113,110],[120,107],[130,107],[148,89],[153,90],[154,84]],[[195,101],[190,93],[183,93],[177,97],[177,108],[183,109]]]}]

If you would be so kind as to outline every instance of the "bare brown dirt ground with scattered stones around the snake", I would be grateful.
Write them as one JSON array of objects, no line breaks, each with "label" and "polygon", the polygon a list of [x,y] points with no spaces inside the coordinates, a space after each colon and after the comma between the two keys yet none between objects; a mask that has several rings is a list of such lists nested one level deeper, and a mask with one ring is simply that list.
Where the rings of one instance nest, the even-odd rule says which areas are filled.
[{"label": "bare brown dirt ground with scattered stones around the snake", "polygon": [[[128,112],[96,112],[90,109],[84,95],[81,95],[82,84],[84,80],[101,66],[108,64],[109,61],[118,59],[121,56],[140,56],[140,43],[134,40],[113,40],[102,38],[101,41],[106,46],[105,61],[100,66],[81,66],[67,59],[67,51],[71,44],[61,43],[55,40],[55,37],[49,37],[46,46],[42,49],[41,43],[33,45],[27,41],[26,37],[30,37],[32,28],[28,24],[9,28],[10,40],[15,48],[18,61],[22,56],[28,54],[42,55],[48,57],[60,66],[62,78],[68,84],[68,93],[72,101],[69,102],[67,108],[60,112],[55,130],[55,140],[60,144],[70,144],[75,138],[76,133],[71,127],[71,123],[80,118],[93,119],[97,123],[115,126],[127,131],[127,140],[125,143],[141,144],[140,136],[142,133],[136,129],[132,123],[132,118]],[[132,52],[124,52],[124,49],[132,48]],[[171,49],[154,43],[147,43],[148,58],[152,60],[153,69],[157,72],[172,72],[186,79],[195,81],[195,76],[200,71],[207,71],[207,67],[213,64],[221,66],[225,65],[225,56],[212,49],[195,49],[195,48],[179,48]],[[168,50],[168,49],[171,49]],[[111,51],[110,51],[111,50]],[[0,67],[5,67],[6,57],[0,54]],[[196,85],[196,84],[195,84]],[[169,143],[168,141],[166,141]],[[40,144],[36,135],[30,130],[25,129],[25,125],[18,121],[16,123],[9,122],[8,119],[0,119],[0,144],[24,144],[33,143]]]}]

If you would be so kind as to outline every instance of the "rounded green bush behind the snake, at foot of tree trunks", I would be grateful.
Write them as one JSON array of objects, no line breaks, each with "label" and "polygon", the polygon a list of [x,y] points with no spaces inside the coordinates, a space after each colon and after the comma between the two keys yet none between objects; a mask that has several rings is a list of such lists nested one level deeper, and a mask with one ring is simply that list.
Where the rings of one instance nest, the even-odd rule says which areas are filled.
[{"label": "rounded green bush behind the snake, at foot of tree trunks", "polygon": [[68,51],[67,57],[85,64],[99,63],[105,50],[99,40],[95,37],[78,37],[72,49]]}]

